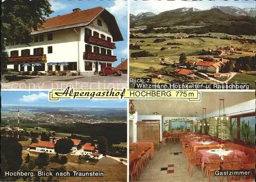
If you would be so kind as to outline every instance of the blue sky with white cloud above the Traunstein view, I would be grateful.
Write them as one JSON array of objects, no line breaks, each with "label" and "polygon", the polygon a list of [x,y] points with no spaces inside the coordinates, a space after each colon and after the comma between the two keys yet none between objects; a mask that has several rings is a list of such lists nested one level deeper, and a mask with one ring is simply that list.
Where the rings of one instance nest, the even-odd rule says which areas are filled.
[{"label": "blue sky with white cloud above the Traunstein view", "polygon": [[127,101],[100,100],[100,99],[68,99],[58,102],[48,101],[48,92],[38,91],[2,91],[2,106],[15,105],[20,106],[49,106],[49,107],[103,107],[103,108],[127,108]]}]

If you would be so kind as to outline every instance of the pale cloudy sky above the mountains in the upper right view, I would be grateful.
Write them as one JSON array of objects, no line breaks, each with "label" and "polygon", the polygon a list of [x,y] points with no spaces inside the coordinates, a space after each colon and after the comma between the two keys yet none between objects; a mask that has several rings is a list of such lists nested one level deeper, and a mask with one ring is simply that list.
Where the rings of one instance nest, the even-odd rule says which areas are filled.
[{"label": "pale cloudy sky above the mountains in the upper right view", "polygon": [[197,8],[200,10],[210,9],[212,6],[236,6],[239,8],[255,8],[255,1],[249,0],[239,0],[239,1],[224,1],[224,0],[202,0],[202,1],[131,1],[130,3],[130,13],[137,15],[142,12],[153,12],[160,13],[163,11],[178,9],[178,8]]}]

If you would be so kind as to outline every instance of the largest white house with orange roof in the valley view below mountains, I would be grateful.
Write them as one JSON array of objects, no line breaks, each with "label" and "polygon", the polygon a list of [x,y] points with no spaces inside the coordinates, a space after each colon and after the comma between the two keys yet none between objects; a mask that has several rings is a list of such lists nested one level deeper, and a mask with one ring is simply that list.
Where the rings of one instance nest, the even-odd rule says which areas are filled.
[{"label": "largest white house with orange roof in the valley view below mountains", "polygon": [[210,62],[210,61],[200,61],[197,62],[197,70],[208,72],[208,73],[219,73],[220,68],[225,64],[222,61]]}]

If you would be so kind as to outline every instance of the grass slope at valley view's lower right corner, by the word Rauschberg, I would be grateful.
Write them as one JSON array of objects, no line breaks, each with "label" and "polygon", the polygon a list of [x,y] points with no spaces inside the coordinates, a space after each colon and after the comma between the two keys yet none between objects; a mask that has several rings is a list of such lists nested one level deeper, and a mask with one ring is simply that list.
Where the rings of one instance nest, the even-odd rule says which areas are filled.
[{"label": "grass slope at valley view's lower right corner, by the word Rauschberg", "polygon": [[235,75],[228,83],[248,83],[250,89],[255,89],[255,74],[240,73]]}]

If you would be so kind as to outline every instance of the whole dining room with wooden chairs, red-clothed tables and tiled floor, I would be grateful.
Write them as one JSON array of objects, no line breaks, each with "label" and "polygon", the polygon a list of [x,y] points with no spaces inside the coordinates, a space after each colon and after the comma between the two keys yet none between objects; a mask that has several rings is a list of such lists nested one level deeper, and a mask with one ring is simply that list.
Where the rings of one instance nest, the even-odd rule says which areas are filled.
[{"label": "whole dining room with wooden chairs, red-clothed tables and tiled floor", "polygon": [[[254,181],[255,96],[130,100],[130,181]],[[217,176],[218,170],[249,175]]]}]

